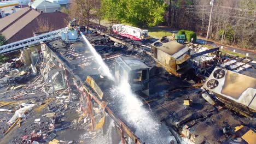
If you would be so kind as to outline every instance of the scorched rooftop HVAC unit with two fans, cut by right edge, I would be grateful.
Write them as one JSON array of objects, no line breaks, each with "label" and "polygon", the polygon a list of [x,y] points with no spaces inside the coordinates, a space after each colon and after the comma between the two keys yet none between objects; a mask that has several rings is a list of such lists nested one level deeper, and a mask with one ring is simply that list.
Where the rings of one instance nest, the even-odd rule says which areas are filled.
[{"label": "scorched rooftop HVAC unit with two fans, cut by right edge", "polygon": [[203,88],[213,92],[222,103],[245,116],[256,111],[256,79],[235,71],[216,67]]}]

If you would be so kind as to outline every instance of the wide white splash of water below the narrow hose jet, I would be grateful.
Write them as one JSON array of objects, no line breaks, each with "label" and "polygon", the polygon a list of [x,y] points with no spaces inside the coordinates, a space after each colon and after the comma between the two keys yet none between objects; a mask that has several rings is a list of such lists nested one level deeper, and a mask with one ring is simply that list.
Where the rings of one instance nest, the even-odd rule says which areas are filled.
[{"label": "wide white splash of water below the narrow hose jet", "polygon": [[150,115],[150,112],[143,107],[141,100],[132,92],[127,79],[123,77],[118,87],[112,89],[113,97],[121,101],[121,115],[135,128],[135,134],[146,143],[159,142],[160,124]]}]

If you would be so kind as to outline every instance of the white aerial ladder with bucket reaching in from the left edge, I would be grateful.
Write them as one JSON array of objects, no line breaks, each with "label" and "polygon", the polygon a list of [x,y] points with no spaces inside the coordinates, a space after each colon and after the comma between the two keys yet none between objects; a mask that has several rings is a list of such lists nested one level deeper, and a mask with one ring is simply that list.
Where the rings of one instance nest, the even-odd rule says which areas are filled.
[{"label": "white aerial ladder with bucket reaching in from the left edge", "polygon": [[0,46],[0,54],[13,52],[16,50],[24,49],[26,46],[38,44],[41,42],[62,39],[64,41],[77,41],[79,34],[79,26],[76,24],[76,19],[69,21],[69,25],[66,28],[57,29],[56,31],[36,35],[32,38],[19,40],[14,43]]}]

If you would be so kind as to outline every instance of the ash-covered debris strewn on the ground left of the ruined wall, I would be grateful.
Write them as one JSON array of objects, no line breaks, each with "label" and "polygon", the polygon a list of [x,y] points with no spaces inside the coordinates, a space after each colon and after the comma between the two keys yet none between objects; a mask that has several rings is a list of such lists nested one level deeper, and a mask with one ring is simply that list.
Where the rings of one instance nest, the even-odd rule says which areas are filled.
[{"label": "ash-covered debris strewn on the ground left of the ruined wall", "polygon": [[89,127],[88,116],[77,111],[78,92],[67,83],[65,69],[41,54],[31,54],[34,64],[18,57],[0,66],[1,143],[76,143]]}]

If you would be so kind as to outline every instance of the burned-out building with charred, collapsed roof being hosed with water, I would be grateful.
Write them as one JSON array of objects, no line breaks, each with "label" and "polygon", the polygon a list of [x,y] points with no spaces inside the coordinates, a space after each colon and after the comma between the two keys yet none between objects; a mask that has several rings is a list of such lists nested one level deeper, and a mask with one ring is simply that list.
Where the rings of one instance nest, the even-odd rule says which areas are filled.
[{"label": "burned-out building with charred, collapsed roof being hosed with water", "polygon": [[[205,88],[222,95],[218,98],[202,89],[202,83],[190,83],[177,77],[193,69],[191,57],[201,56],[208,51],[199,52],[200,55],[190,55],[189,46],[171,41],[167,37],[152,44],[152,57],[144,51],[145,47],[132,49],[134,47],[131,45],[124,42],[121,44],[118,42],[121,40],[102,32],[89,31],[85,33],[85,37],[117,81],[110,80],[104,74],[103,67],[89,49],[90,45],[82,39],[72,43],[57,39],[42,44],[43,60],[40,71],[45,81],[53,83],[53,91],[64,89],[69,98],[74,95],[79,98],[77,107],[81,117],[86,118],[86,131],[95,133],[95,136],[86,142],[94,143],[98,138],[100,143],[104,143],[104,137],[113,137],[108,139],[109,143],[252,143],[248,135],[255,139],[255,121],[238,115],[218,101],[220,98],[226,100],[230,96],[236,97],[233,94],[238,93],[230,91],[233,83],[225,85],[225,80],[232,81],[229,75],[240,74],[222,68],[214,70],[221,69],[218,74],[213,71],[206,81]],[[161,66],[156,67],[155,61]],[[230,64],[226,64],[226,67],[234,64],[231,60],[228,62]],[[247,67],[246,64],[240,66],[236,67],[236,70]],[[223,76],[222,70],[227,74]],[[118,87],[119,82],[125,78],[128,79],[133,94],[128,97],[119,93],[114,95],[113,88]],[[213,83],[207,88],[211,79],[222,81],[219,81],[217,86]],[[240,95],[245,91],[249,92],[249,102],[237,103],[236,100],[231,105],[237,107],[236,105],[241,103],[241,109],[247,106],[246,108],[252,111],[254,97],[251,97],[250,93],[255,89],[255,79],[238,76],[240,82],[244,79],[248,80],[248,83],[241,86],[241,89],[237,88],[237,92],[239,91]],[[214,91],[214,88],[211,88],[214,86],[219,86],[220,89],[226,86],[228,91]],[[70,91],[76,93],[72,94]],[[127,109],[126,104],[131,105],[128,107],[130,109]],[[139,110],[135,109],[138,105]],[[160,135],[147,135],[147,128],[152,128],[154,122],[160,125],[156,129]]]}]

